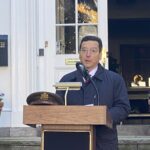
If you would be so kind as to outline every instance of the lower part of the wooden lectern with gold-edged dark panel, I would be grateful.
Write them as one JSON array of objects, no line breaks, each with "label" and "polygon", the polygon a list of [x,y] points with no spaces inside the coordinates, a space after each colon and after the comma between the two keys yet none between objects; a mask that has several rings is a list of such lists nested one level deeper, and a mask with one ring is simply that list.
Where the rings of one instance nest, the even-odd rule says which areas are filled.
[{"label": "lower part of the wooden lectern with gold-edged dark panel", "polygon": [[95,150],[91,126],[43,126],[42,150]]}]

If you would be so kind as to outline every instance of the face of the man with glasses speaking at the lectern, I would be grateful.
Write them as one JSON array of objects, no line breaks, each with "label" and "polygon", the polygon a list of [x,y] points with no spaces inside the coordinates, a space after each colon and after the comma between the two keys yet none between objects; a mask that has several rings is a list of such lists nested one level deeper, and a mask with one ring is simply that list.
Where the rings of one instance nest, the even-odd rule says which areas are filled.
[{"label": "face of the man with glasses speaking at the lectern", "polygon": [[83,42],[79,51],[79,58],[88,71],[94,69],[99,63],[99,60],[101,59],[101,53],[99,52],[98,42]]}]

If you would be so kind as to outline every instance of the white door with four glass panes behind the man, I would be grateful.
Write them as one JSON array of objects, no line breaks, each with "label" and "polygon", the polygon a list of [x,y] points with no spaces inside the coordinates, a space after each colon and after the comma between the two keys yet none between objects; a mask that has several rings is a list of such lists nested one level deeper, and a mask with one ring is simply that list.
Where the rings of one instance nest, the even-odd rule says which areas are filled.
[{"label": "white door with four glass panes behind the man", "polygon": [[[75,70],[75,64],[79,61],[78,47],[83,36],[98,35],[107,51],[107,0],[46,1],[43,31],[48,46],[45,45],[47,54],[44,66],[49,73],[45,77],[42,75],[42,78],[52,85],[59,82],[64,74]],[[107,58],[104,56],[103,64],[107,67]]]}]

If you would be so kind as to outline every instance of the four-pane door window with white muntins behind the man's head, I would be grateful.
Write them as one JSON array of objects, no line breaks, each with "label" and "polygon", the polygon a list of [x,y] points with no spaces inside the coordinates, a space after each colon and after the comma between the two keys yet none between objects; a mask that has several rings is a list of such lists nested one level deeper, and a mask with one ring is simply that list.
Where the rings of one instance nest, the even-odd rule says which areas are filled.
[{"label": "four-pane door window with white muntins behind the man's head", "polygon": [[56,0],[56,54],[77,54],[80,40],[98,35],[97,0]]}]

